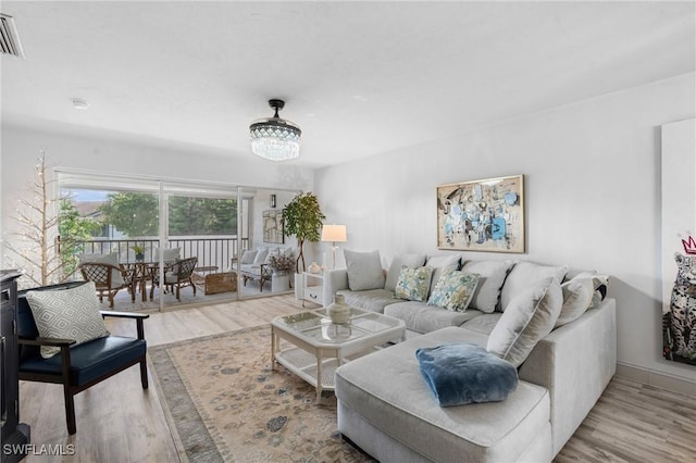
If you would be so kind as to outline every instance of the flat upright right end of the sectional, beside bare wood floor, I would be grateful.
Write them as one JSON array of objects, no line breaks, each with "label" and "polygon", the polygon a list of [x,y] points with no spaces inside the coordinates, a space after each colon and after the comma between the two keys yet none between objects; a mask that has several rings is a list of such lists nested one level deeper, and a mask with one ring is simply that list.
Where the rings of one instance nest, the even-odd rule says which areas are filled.
[{"label": "flat upright right end of the sectional, beside bare wood floor", "polygon": [[520,379],[544,386],[551,399],[554,455],[566,445],[617,371],[616,301],[542,339],[520,366]]}]

